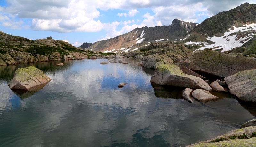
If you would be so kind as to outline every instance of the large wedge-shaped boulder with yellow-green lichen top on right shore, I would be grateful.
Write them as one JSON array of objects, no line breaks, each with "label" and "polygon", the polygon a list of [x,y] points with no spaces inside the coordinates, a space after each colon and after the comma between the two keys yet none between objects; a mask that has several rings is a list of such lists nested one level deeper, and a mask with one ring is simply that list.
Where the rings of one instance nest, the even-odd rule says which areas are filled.
[{"label": "large wedge-shaped boulder with yellow-green lichen top on right shore", "polygon": [[212,88],[203,79],[187,75],[174,64],[160,64],[156,67],[154,75],[151,77],[150,82],[159,85],[170,85],[177,87],[185,87],[192,89],[204,89],[211,91]]}]

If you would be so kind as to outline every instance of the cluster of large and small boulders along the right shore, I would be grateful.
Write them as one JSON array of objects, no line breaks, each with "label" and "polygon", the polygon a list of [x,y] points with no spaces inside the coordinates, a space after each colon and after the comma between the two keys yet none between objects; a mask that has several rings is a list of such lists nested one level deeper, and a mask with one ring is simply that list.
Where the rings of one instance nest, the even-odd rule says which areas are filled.
[{"label": "cluster of large and small boulders along the right shore", "polygon": [[[148,58],[143,62],[148,62]],[[154,62],[151,68],[155,68],[155,72],[150,82],[184,87],[183,98],[191,103],[191,98],[200,101],[217,99],[211,91],[230,92],[243,101],[256,102],[256,60],[252,58],[204,49],[178,64]],[[215,80],[208,80],[198,73]]]}]

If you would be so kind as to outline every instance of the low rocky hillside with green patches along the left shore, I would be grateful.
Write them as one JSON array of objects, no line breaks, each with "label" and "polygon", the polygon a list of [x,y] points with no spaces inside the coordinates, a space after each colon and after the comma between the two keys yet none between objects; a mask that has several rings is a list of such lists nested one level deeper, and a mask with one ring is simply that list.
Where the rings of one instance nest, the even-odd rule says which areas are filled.
[{"label": "low rocky hillside with green patches along the left shore", "polygon": [[0,65],[29,63],[51,60],[84,59],[96,54],[92,51],[76,48],[62,40],[29,40],[0,31]]}]

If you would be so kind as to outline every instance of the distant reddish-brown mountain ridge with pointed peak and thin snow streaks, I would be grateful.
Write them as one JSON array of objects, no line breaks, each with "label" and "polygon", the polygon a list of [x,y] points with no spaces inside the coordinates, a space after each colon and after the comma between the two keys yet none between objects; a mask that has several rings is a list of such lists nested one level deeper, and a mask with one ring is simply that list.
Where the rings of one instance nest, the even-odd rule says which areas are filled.
[{"label": "distant reddish-brown mountain ridge with pointed peak and thin snow streaks", "polygon": [[198,24],[174,19],[170,26],[136,28],[126,34],[93,43],[87,50],[117,52],[138,43],[146,45],[156,41],[178,41],[184,38]]}]

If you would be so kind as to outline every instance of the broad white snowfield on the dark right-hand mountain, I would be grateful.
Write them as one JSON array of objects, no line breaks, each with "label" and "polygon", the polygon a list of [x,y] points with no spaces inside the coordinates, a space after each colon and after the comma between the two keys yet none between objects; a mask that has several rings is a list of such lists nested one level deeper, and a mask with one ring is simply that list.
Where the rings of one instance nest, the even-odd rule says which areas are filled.
[{"label": "broad white snowfield on the dark right-hand mountain", "polygon": [[[222,52],[224,52],[224,51],[231,50],[232,48],[242,46],[244,43],[246,43],[256,35],[256,24],[244,25],[243,27],[233,26],[233,28],[234,29],[230,28],[228,32],[225,32],[224,36],[208,37],[207,39],[212,42],[215,42],[214,44],[209,44],[206,42],[191,42],[191,41],[185,44],[202,45],[203,43],[204,46],[199,48],[200,50],[203,50],[205,48],[214,48],[214,49],[223,48]],[[189,36],[187,36],[186,38],[188,37]]]}]

